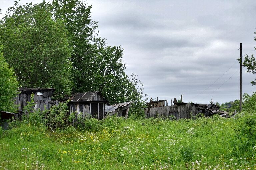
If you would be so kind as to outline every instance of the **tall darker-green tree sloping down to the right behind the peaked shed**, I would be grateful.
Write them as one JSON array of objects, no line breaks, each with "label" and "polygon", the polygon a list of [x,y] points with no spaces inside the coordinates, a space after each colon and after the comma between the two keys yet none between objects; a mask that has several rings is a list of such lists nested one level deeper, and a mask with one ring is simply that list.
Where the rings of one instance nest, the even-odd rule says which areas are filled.
[{"label": "tall darker-green tree sloping down to the right behind the peaked shed", "polygon": [[143,84],[133,74],[125,74],[123,48],[107,46],[97,35],[97,22],[91,19],[91,6],[80,0],[53,0],[54,15],[65,21],[72,46],[73,92],[100,91],[111,104],[134,101],[141,109]]}]

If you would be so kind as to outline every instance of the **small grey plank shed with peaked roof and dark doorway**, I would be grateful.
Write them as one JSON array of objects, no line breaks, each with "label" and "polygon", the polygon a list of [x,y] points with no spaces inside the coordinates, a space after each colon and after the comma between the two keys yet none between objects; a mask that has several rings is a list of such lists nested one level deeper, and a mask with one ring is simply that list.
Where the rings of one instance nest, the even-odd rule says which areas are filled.
[{"label": "small grey plank shed with peaked roof and dark doorway", "polygon": [[76,93],[71,97],[60,100],[60,102],[70,100],[68,103],[70,113],[76,113],[76,118],[92,117],[99,120],[105,118],[105,106],[109,105],[99,91]]}]

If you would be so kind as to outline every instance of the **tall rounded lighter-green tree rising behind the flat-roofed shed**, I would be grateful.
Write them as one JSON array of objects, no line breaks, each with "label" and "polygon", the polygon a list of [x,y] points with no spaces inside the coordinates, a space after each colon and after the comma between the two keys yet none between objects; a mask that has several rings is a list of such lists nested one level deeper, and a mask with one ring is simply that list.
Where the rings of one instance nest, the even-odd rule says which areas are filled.
[{"label": "tall rounded lighter-green tree rising behind the flat-roofed shed", "polygon": [[0,41],[21,86],[53,87],[62,96],[72,90],[72,49],[64,21],[51,10],[45,1],[10,7],[1,21]]}]

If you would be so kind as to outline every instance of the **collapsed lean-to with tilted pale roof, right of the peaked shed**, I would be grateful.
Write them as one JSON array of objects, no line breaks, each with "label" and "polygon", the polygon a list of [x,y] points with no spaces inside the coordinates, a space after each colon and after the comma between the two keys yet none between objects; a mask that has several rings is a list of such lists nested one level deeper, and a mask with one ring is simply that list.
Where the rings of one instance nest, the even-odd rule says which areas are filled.
[{"label": "collapsed lean-to with tilted pale roof, right of the peaked shed", "polygon": [[117,113],[117,117],[124,117],[126,119],[131,103],[132,101],[105,106],[105,115],[112,116]]}]

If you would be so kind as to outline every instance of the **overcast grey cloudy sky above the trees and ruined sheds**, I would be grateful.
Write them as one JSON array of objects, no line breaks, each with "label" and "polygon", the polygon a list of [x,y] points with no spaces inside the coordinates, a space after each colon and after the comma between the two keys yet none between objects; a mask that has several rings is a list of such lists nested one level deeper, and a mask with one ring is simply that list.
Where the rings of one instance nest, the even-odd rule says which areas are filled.
[{"label": "overcast grey cloudy sky above the trees and ruined sheds", "polygon": [[[31,0],[21,4],[25,2]],[[99,35],[108,45],[125,49],[126,73],[138,75],[149,98],[170,102],[182,94],[184,102],[195,103],[239,99],[236,59],[240,43],[243,55],[256,47],[255,0],[87,2],[92,5],[93,20],[99,21]],[[12,4],[2,1],[0,17]],[[256,88],[250,81],[256,76],[245,71],[243,93],[252,94]]]}]

